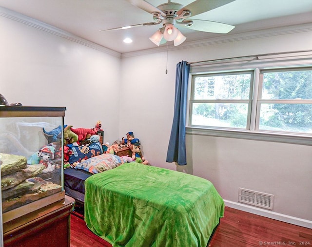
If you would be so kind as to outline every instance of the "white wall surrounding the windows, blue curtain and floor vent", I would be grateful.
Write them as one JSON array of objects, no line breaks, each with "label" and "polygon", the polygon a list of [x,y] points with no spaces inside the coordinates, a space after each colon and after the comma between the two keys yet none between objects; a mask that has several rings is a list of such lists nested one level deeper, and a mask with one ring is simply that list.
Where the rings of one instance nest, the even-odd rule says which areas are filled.
[{"label": "white wall surrounding the windows, blue curtain and floor vent", "polygon": [[[303,31],[272,30],[252,38],[166,52],[125,55],[122,58],[121,93],[133,95],[122,104],[120,132],[134,131],[151,164],[176,169],[166,163],[174,108],[175,72],[179,61],[188,62],[312,49],[312,25]],[[129,119],[129,117],[128,117]],[[238,202],[239,187],[274,194],[273,214],[305,219],[312,227],[312,147],[267,141],[187,135],[188,173],[211,180],[227,201]],[[243,206],[242,206],[243,207]],[[256,209],[255,209],[256,210]],[[271,211],[268,211],[271,212]]]}]

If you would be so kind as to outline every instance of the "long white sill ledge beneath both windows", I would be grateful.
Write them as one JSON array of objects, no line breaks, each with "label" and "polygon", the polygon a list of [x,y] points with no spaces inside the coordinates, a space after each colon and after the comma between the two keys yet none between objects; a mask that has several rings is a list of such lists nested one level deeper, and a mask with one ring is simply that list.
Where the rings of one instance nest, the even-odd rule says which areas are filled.
[{"label": "long white sill ledge beneath both windows", "polygon": [[247,130],[204,129],[190,126],[186,127],[186,134],[247,139],[255,141],[273,141],[312,146],[312,136],[295,134],[286,135],[280,133],[252,132]]}]

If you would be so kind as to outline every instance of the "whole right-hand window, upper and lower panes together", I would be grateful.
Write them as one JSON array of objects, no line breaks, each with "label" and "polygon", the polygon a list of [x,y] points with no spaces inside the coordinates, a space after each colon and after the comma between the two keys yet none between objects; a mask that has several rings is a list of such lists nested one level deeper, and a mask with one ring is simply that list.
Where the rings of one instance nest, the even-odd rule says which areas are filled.
[{"label": "whole right-hand window, upper and lower panes together", "polygon": [[260,71],[257,129],[312,133],[312,68]]}]

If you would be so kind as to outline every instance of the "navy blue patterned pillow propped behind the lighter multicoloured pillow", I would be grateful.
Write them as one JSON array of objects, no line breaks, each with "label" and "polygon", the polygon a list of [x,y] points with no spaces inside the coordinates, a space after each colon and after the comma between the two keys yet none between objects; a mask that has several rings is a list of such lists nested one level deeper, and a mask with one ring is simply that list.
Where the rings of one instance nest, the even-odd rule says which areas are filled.
[{"label": "navy blue patterned pillow propped behind the lighter multicoloured pillow", "polygon": [[70,164],[73,164],[74,162],[81,162],[82,159],[89,159],[91,157],[103,154],[103,149],[100,142],[93,142],[89,146],[72,145],[69,151],[72,151],[72,155],[68,160]]}]

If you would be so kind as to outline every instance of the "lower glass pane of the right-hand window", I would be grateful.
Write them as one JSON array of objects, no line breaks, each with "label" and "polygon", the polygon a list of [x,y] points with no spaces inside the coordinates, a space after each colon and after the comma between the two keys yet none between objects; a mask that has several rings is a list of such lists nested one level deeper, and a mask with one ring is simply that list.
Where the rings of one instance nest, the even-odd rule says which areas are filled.
[{"label": "lower glass pane of the right-hand window", "polygon": [[261,104],[260,130],[312,133],[312,104]]}]

